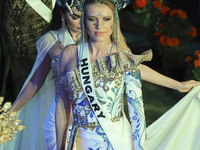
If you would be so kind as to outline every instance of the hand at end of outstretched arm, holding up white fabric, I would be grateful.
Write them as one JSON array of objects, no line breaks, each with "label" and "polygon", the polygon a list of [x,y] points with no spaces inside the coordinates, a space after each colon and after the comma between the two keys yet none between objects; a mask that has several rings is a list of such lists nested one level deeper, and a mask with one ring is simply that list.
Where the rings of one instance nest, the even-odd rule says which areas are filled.
[{"label": "hand at end of outstretched arm, holding up white fabric", "polygon": [[200,86],[200,82],[195,80],[180,82],[180,87],[177,90],[182,93],[189,92],[194,86]]}]

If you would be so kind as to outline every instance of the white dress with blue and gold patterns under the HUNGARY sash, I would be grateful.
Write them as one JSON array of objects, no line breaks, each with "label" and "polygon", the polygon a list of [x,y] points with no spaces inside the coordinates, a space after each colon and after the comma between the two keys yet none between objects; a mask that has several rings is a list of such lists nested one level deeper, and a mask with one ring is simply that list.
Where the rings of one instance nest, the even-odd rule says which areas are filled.
[{"label": "white dress with blue and gold patterns under the HUNGARY sash", "polygon": [[[146,126],[139,64],[142,61],[150,60],[151,56],[151,51],[145,55],[133,55],[127,51],[120,52],[119,64],[115,71],[108,69],[108,58],[98,59],[92,63],[97,99],[113,122],[113,127],[116,128],[128,147],[127,150],[132,149],[132,138],[135,147],[145,148]],[[111,56],[111,62],[116,62],[116,55]],[[79,70],[67,72],[62,77],[61,84],[69,92],[74,117],[69,149],[75,141],[77,150],[112,150],[113,147],[83,92]],[[129,103],[133,134],[131,134],[131,127],[123,110],[124,90]],[[74,140],[75,137],[76,140]]]}]

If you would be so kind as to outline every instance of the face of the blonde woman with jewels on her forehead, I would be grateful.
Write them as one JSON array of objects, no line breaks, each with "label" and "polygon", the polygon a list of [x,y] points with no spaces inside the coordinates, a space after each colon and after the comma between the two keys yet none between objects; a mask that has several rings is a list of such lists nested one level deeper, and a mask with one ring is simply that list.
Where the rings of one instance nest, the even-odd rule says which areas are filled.
[{"label": "face of the blonde woman with jewels on her forehead", "polygon": [[104,4],[86,6],[85,24],[90,40],[95,42],[110,40],[113,20],[113,11],[109,6]]}]

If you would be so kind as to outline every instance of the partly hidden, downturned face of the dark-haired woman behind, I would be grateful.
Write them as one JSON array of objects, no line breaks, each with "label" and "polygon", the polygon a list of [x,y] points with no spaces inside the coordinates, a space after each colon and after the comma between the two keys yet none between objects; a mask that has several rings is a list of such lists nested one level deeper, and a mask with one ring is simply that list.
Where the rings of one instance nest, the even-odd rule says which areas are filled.
[{"label": "partly hidden, downturned face of the dark-haired woman behind", "polygon": [[72,32],[80,32],[81,31],[81,25],[80,25],[80,18],[81,18],[81,12],[76,10],[76,7],[71,7],[74,14],[70,14],[70,11],[66,11],[61,16],[65,19],[67,23],[67,29]]}]

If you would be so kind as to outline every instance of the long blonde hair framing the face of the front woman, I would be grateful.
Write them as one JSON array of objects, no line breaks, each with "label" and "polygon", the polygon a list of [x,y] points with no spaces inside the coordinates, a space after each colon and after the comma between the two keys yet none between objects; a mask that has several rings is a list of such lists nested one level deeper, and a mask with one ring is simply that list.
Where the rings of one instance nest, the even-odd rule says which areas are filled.
[{"label": "long blonde hair framing the face of the front woman", "polygon": [[[126,41],[124,36],[122,35],[121,29],[120,29],[120,21],[119,21],[119,15],[118,12],[115,10],[115,6],[113,4],[112,0],[86,0],[85,4],[84,4],[84,11],[82,12],[82,17],[81,17],[81,26],[82,26],[82,42],[85,42],[88,40],[87,33],[85,30],[85,12],[86,7],[88,5],[92,5],[92,4],[103,4],[103,5],[107,5],[111,8],[111,10],[113,11],[113,16],[114,16],[114,25],[113,25],[113,32],[111,34],[111,40],[118,44],[118,48],[120,50],[128,50],[130,51],[129,47],[126,45]],[[116,13],[115,13],[116,12]],[[117,31],[115,30],[115,19],[117,17]]]}]

